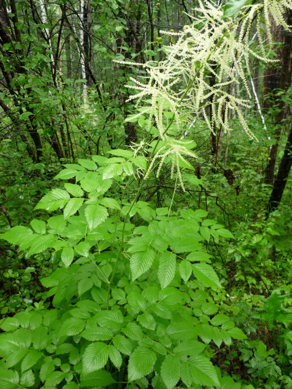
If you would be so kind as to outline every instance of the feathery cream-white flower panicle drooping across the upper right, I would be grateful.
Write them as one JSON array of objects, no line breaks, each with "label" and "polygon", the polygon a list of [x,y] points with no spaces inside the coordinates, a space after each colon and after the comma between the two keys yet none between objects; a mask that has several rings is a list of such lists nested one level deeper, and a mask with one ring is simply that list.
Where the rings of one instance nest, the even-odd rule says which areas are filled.
[{"label": "feathery cream-white flower panicle drooping across the upper right", "polygon": [[[194,116],[201,115],[213,133],[216,127],[230,133],[232,128],[228,123],[228,114],[223,115],[223,112],[233,109],[243,130],[249,137],[255,138],[241,112],[242,108],[250,106],[251,100],[247,78],[250,70],[246,65],[251,55],[266,62],[273,61],[268,59],[262,39],[262,25],[257,16],[264,16],[268,37],[272,42],[270,14],[277,24],[289,29],[283,15],[286,7],[292,9],[292,1],[261,0],[254,5],[246,5],[236,20],[225,17],[223,8],[211,2],[203,4],[199,0],[199,6],[196,9],[198,18],[190,16],[196,23],[184,26],[179,33],[161,31],[162,34],[177,36],[177,42],[164,48],[167,53],[164,61],[148,61],[143,65],[147,76],[139,80],[131,78],[134,85],[128,85],[135,91],[128,100],[135,100],[137,108],[140,108],[140,112],[131,119],[148,112],[148,129],[155,125],[160,140],[165,142],[154,155],[146,176],[157,159],[160,159],[159,173],[166,157],[172,156],[171,175],[176,166],[182,187],[179,161],[185,162],[183,155],[194,157],[195,154],[173,138],[169,131],[171,124],[176,125],[180,137],[180,131],[184,133],[189,125],[187,121],[191,123]],[[248,42],[255,18],[261,55],[253,52]],[[117,62],[133,65],[132,62]],[[216,79],[214,86],[210,85],[210,77]],[[232,84],[239,83],[249,100],[236,95],[234,88],[231,88]],[[141,106],[145,107],[145,111],[141,110]],[[212,115],[207,114],[207,107]],[[186,127],[182,128],[182,123]]]}]

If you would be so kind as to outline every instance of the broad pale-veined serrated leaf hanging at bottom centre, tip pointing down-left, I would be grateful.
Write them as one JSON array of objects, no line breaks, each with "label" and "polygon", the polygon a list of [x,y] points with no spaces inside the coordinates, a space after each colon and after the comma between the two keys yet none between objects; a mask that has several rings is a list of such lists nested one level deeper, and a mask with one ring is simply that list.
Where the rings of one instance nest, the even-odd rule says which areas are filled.
[{"label": "broad pale-veined serrated leaf hanging at bottom centre, tip pointing down-left", "polygon": [[156,355],[146,347],[139,346],[130,355],[128,363],[128,380],[137,380],[153,370]]}]

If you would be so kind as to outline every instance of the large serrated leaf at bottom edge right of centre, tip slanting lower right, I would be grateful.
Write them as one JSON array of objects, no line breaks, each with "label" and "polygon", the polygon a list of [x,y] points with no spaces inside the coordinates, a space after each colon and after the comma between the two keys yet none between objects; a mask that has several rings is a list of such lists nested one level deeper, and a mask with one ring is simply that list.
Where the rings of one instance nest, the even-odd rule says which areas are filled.
[{"label": "large serrated leaf at bottom edge right of centre, tip slanting lower right", "polygon": [[215,367],[205,356],[193,355],[188,362],[195,382],[205,386],[220,386]]}]

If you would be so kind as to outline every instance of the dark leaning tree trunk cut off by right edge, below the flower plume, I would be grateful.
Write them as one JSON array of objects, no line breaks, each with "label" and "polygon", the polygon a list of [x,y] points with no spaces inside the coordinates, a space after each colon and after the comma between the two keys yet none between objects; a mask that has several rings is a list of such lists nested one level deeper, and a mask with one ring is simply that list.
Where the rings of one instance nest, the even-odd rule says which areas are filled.
[{"label": "dark leaning tree trunk cut off by right edge, below the flower plume", "polygon": [[277,176],[274,181],[273,190],[268,204],[268,214],[273,212],[279,205],[286,186],[287,178],[292,166],[292,125],[288,134],[288,139],[281,159]]}]

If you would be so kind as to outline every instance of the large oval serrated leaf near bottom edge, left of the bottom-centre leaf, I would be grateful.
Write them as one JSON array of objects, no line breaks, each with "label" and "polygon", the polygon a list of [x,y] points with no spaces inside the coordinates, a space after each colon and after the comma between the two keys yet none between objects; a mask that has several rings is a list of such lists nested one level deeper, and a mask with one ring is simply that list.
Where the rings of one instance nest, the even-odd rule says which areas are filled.
[{"label": "large oval serrated leaf near bottom edge, left of the bottom-centre leaf", "polygon": [[90,344],[82,357],[83,372],[87,373],[103,368],[108,361],[109,352],[106,343]]}]

